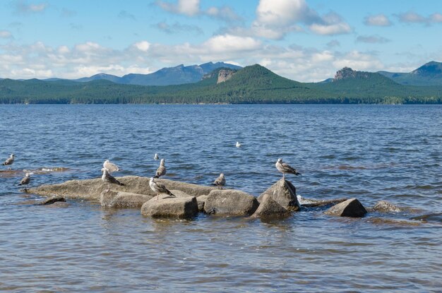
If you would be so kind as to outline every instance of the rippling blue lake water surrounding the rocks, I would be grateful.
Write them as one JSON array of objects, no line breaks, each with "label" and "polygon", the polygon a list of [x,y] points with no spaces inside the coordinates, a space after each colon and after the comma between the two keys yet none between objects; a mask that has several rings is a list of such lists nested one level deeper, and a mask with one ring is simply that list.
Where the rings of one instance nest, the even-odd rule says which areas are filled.
[{"label": "rippling blue lake water surrounding the rocks", "polygon": [[[17,156],[0,166],[1,291],[441,292],[441,106],[0,105],[0,133],[1,160]],[[85,201],[31,205],[39,197],[17,186],[23,169],[31,186],[100,177],[106,159],[118,176],[150,177],[155,153],[167,179],[224,172],[255,196],[280,179],[282,157],[305,198],[418,210],[153,220]]]}]

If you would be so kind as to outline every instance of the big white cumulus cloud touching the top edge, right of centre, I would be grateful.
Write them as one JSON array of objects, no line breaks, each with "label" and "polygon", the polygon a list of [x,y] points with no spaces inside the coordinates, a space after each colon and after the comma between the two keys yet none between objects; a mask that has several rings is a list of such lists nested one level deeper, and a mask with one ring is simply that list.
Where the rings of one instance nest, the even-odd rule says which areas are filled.
[{"label": "big white cumulus cloud touching the top edge, right of centre", "polygon": [[261,37],[278,40],[288,32],[302,31],[301,25],[318,35],[340,35],[352,31],[337,13],[320,16],[304,0],[260,0],[252,30]]}]

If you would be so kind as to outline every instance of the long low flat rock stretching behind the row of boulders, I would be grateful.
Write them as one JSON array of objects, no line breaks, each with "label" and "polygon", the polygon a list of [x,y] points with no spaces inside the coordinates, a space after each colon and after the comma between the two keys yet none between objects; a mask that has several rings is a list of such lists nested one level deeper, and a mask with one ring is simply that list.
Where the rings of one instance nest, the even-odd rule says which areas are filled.
[{"label": "long low flat rock stretching behind the row of boulders", "polygon": [[[29,193],[34,193],[39,196],[64,196],[65,198],[80,198],[89,201],[100,201],[102,191],[112,189],[114,191],[124,191],[129,193],[145,194],[148,196],[156,196],[156,194],[149,187],[149,178],[138,176],[117,177],[117,180],[124,184],[124,186],[117,186],[117,184],[107,184],[101,178],[85,179],[85,180],[71,180],[61,184],[42,185],[33,189],[29,189]],[[177,189],[184,191],[191,196],[202,196],[215,190],[213,186],[201,186],[196,184],[189,184],[180,181],[172,181],[167,179],[157,179],[157,182],[165,184],[167,189]]]}]

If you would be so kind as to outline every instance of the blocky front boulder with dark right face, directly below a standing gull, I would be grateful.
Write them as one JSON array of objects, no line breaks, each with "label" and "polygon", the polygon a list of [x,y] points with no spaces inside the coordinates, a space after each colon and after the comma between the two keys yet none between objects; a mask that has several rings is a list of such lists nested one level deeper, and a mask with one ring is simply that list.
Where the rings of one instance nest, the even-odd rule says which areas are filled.
[{"label": "blocky front boulder with dark right face, directly below a standing gull", "polygon": [[141,215],[148,217],[175,217],[189,219],[198,215],[196,197],[172,198],[167,194],[160,194],[147,201],[141,207]]}]

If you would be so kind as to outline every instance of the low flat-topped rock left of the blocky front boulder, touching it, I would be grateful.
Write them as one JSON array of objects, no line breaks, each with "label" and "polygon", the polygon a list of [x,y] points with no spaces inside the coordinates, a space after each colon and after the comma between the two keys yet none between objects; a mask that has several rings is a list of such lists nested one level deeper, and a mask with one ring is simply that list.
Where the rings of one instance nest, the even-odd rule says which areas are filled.
[{"label": "low flat-topped rock left of the blocky front boulder, touching it", "polygon": [[143,203],[149,201],[150,198],[153,198],[153,196],[124,191],[105,190],[101,193],[100,203],[106,208],[141,208]]}]

